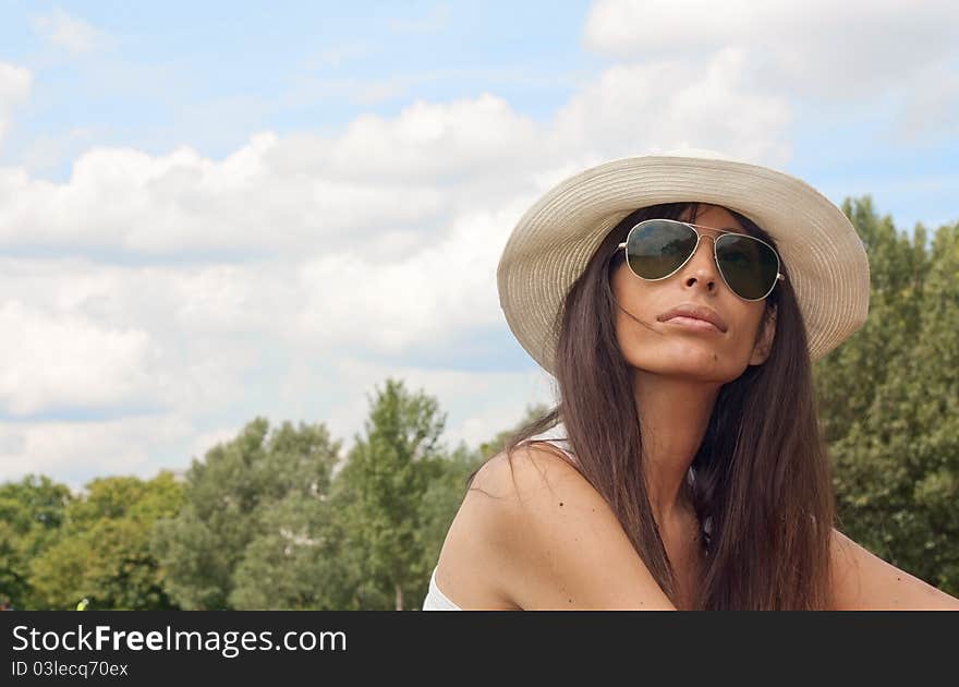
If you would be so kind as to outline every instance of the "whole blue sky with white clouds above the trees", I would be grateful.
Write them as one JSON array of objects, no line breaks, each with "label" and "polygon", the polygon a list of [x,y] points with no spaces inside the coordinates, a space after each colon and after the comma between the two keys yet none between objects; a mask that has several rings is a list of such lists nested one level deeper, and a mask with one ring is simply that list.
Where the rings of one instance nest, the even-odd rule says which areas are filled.
[{"label": "whole blue sky with white clouds above the trees", "polygon": [[387,377],[476,445],[554,400],[496,265],[535,200],[701,147],[959,220],[959,3],[0,0],[0,481],[344,449]]}]

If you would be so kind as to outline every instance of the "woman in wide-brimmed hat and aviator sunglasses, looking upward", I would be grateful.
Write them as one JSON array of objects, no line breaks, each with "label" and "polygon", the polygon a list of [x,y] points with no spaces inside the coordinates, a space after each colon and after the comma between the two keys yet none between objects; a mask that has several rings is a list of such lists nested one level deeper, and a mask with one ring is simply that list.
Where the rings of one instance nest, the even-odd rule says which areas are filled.
[{"label": "woman in wide-brimmed hat and aviator sunglasses, looking upward", "polygon": [[523,216],[498,282],[560,400],[470,477],[425,610],[959,610],[833,527],[811,367],[870,284],[815,190],[614,160]]}]

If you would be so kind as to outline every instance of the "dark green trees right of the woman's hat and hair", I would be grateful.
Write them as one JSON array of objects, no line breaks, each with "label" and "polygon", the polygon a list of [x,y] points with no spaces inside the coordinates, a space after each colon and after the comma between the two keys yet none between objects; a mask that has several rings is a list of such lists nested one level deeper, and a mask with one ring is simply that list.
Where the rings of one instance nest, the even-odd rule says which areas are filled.
[{"label": "dark green trees right of the woman's hat and hair", "polygon": [[843,205],[872,279],[863,328],[817,363],[841,529],[959,593],[959,224],[913,238]]}]

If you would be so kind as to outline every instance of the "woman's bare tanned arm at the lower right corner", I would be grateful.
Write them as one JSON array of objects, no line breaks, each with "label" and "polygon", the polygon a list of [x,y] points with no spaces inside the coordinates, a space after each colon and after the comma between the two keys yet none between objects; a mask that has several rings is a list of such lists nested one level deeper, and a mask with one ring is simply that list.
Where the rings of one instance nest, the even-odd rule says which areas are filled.
[{"label": "woman's bare tanned arm at the lower right corner", "polygon": [[870,553],[833,530],[837,611],[959,611],[959,599]]}]

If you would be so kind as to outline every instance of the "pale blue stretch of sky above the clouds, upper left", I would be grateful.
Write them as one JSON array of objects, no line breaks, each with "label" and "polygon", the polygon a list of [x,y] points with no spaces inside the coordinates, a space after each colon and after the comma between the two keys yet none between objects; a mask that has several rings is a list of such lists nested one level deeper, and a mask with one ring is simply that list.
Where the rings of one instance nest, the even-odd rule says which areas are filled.
[{"label": "pale blue stretch of sky above the clouds, upper left", "polygon": [[43,74],[8,160],[77,128],[86,144],[160,154],[189,141],[216,158],[253,131],[335,132],[360,112],[483,91],[545,118],[600,62],[578,47],[582,2],[50,5],[101,32],[80,55],[32,28],[40,5],[7,4],[5,58]]}]

